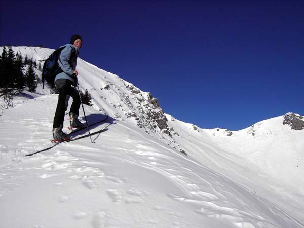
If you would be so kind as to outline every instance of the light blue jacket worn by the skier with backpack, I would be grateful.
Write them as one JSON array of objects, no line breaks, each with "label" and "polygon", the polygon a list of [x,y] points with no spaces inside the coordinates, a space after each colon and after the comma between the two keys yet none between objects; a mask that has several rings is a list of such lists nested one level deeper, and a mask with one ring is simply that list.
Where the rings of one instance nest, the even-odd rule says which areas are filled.
[{"label": "light blue jacket worn by the skier with backpack", "polygon": [[57,79],[68,79],[74,82],[72,74],[73,71],[76,69],[79,49],[71,44],[66,44],[61,47],[64,47],[64,49],[62,49],[58,57],[58,64],[63,72],[61,71],[59,74],[56,75],[55,81]]}]

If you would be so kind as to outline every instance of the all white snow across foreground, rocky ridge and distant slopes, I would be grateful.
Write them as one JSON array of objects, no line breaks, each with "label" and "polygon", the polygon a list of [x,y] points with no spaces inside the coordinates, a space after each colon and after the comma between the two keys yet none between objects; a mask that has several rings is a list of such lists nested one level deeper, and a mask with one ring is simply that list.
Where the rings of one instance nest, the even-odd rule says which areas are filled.
[{"label": "all white snow across foreground, rocky ridge and distant slopes", "polygon": [[88,122],[109,115],[90,131],[106,131],[24,157],[51,145],[57,95],[15,97],[0,116],[0,227],[304,227],[303,130],[281,116],[227,136],[166,115],[170,137],[127,115],[145,123],[148,93],[81,59],[78,71]]}]

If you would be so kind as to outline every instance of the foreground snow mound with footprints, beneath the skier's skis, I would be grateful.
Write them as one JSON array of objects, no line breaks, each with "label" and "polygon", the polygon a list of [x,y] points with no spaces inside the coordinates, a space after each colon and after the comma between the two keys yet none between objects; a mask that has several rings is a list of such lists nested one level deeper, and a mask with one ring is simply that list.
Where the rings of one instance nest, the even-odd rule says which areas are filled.
[{"label": "foreground snow mound with footprints, beneath the skier's skis", "polygon": [[[108,131],[94,144],[72,141],[24,157],[50,143],[56,100],[43,96],[2,113],[2,227],[303,227],[122,121],[96,126]],[[89,120],[98,116],[86,110]]]}]

